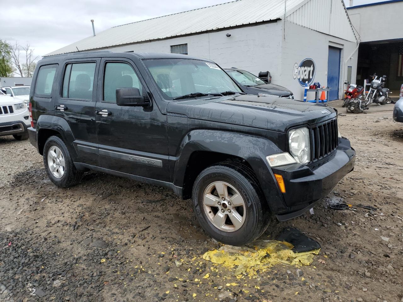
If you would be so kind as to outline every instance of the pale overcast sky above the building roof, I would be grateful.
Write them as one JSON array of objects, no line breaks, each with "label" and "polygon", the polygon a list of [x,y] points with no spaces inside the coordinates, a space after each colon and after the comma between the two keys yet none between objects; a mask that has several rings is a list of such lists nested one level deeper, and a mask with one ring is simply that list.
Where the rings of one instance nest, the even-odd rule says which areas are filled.
[{"label": "pale overcast sky above the building roof", "polygon": [[[183,12],[228,0],[19,0],[1,6],[0,39],[10,43],[30,43],[42,56],[92,35],[95,31],[139,20]],[[354,0],[354,5],[382,0]],[[270,0],[267,0],[270,5]],[[345,0],[349,6],[349,0]],[[151,5],[150,5],[151,4]]]}]

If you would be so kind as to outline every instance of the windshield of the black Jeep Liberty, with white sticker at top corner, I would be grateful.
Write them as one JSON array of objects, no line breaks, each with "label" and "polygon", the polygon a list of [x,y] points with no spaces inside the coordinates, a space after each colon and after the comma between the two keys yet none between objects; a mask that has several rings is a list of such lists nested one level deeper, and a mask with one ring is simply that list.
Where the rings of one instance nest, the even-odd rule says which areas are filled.
[{"label": "windshield of the black Jeep Liberty, with white sticker at top corner", "polygon": [[[234,81],[214,63],[193,59],[144,60],[165,99],[242,93]],[[189,96],[187,96],[189,95]]]}]

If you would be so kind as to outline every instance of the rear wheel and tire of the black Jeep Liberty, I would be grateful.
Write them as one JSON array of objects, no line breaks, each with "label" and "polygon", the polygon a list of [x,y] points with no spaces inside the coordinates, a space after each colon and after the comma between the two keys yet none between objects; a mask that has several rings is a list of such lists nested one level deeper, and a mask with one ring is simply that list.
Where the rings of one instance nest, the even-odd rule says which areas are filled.
[{"label": "rear wheel and tire of the black Jeep Liberty", "polygon": [[68,188],[80,182],[83,173],[75,168],[69,150],[60,137],[48,138],[43,157],[46,173],[56,186]]}]

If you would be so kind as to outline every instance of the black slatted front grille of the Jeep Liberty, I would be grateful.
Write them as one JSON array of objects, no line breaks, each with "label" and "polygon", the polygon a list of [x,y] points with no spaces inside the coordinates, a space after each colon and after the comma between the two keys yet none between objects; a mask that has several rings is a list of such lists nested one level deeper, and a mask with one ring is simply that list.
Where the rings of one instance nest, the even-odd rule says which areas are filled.
[{"label": "black slatted front grille of the Jeep Liberty", "polygon": [[328,156],[339,145],[337,119],[310,127],[311,162]]}]

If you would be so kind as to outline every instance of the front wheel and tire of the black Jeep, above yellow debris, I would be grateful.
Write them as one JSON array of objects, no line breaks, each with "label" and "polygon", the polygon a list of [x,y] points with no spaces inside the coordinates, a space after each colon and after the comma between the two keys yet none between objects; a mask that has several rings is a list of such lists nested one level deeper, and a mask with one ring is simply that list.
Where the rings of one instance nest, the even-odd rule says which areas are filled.
[{"label": "front wheel and tire of the black Jeep, above yellow debris", "polygon": [[202,228],[216,240],[242,246],[259,238],[270,211],[253,172],[246,165],[223,162],[203,170],[192,192]]}]

